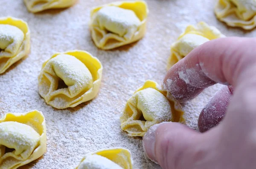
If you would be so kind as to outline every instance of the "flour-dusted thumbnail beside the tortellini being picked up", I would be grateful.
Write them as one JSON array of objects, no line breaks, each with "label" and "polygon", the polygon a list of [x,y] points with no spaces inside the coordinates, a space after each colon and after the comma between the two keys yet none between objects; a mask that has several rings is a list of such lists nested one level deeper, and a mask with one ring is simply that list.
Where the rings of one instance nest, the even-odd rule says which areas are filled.
[{"label": "flour-dusted thumbnail beside the tortellini being picked up", "polygon": [[[166,122],[163,122],[166,123]],[[148,131],[143,136],[143,150],[145,155],[154,163],[157,163],[156,155],[155,155],[155,144],[156,144],[156,130],[161,124],[155,124],[154,126],[150,127]],[[158,163],[157,163],[158,164]]]}]

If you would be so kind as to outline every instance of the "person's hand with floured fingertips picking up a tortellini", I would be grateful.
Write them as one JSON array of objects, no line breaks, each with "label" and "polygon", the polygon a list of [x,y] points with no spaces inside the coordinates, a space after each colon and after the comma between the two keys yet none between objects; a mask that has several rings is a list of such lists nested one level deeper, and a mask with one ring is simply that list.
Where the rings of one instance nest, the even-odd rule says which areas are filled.
[{"label": "person's hand with floured fingertips picking up a tortellini", "polygon": [[[189,101],[215,83],[227,86],[202,111],[199,122],[204,123],[199,126],[203,133],[174,122],[151,127],[143,137],[148,158],[163,169],[256,168],[255,44],[256,38],[215,39],[194,49],[168,71],[163,83],[179,101]],[[180,78],[177,72],[186,75],[188,69],[192,73]],[[168,79],[175,78],[167,85]],[[226,103],[220,105],[219,100]],[[213,104],[215,112],[209,109]],[[224,118],[218,124],[216,115],[209,118],[211,114]],[[207,126],[212,121],[218,125]]]}]

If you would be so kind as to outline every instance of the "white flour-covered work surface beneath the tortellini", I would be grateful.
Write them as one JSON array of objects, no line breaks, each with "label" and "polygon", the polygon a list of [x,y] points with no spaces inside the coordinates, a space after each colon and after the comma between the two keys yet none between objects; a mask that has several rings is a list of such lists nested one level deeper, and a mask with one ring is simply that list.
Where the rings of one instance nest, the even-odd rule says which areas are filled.
[{"label": "white flour-covered work surface beneath the tortellini", "polygon": [[[119,115],[126,101],[145,80],[162,82],[170,46],[189,24],[204,21],[228,37],[256,36],[255,31],[230,28],[218,21],[214,16],[215,0],[147,0],[145,37],[116,50],[103,51],[90,37],[90,9],[111,2],[79,0],[71,8],[32,14],[23,0],[0,0],[0,17],[23,19],[31,31],[29,56],[0,75],[0,115],[37,109],[46,118],[47,152],[22,169],[72,168],[88,152],[116,146],[131,150],[134,169],[160,168],[144,155],[141,138],[131,138],[120,129]],[[39,96],[38,74],[52,54],[75,49],[88,51],[102,62],[101,89],[92,101],[57,110]],[[220,87],[209,87],[184,105],[189,127],[197,129],[201,109]]]}]

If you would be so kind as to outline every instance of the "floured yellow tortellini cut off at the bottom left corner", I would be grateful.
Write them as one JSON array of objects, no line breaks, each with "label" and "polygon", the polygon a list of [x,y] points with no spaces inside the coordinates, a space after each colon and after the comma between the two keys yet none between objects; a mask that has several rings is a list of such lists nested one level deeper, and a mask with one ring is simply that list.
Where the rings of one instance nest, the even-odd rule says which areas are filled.
[{"label": "floured yellow tortellini cut off at the bottom left corner", "polygon": [[17,169],[46,151],[44,115],[38,110],[0,118],[0,168]]}]

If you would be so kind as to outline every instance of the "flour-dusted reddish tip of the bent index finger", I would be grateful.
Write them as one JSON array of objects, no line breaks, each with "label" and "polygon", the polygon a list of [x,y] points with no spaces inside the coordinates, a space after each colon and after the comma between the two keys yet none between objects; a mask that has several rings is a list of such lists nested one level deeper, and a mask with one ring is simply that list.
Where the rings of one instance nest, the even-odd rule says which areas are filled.
[{"label": "flour-dusted reddish tip of the bent index finger", "polygon": [[198,58],[190,56],[173,65],[163,80],[163,88],[180,102],[194,99],[204,88],[214,84],[201,70]]}]

